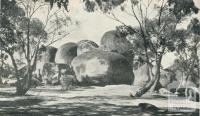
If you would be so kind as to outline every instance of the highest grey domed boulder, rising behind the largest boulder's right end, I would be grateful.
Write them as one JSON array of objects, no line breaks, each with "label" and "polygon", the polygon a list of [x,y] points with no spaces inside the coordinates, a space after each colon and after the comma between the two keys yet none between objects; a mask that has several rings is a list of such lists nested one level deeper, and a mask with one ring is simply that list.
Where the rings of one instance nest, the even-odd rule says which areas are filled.
[{"label": "highest grey domed boulder, rising behind the largest boulder's right end", "polygon": [[117,31],[108,31],[101,38],[100,48],[104,51],[117,52],[124,55],[130,63],[133,61],[133,46]]}]

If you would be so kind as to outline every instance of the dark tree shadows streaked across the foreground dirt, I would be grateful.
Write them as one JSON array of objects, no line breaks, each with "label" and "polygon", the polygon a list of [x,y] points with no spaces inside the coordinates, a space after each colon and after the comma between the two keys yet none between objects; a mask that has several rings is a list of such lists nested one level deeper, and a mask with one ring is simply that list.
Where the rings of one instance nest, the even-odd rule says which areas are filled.
[{"label": "dark tree shadows streaked across the foreground dirt", "polygon": [[[120,97],[116,99],[127,99],[128,97]],[[65,98],[67,99],[67,98]],[[24,97],[11,101],[0,101],[0,116],[198,116],[195,112],[169,112],[160,108],[142,108],[141,106],[122,106],[110,103],[88,102],[111,99],[104,96],[77,96],[68,100],[77,99],[82,102],[73,103],[57,103],[54,105],[44,105],[45,98]],[[84,101],[85,100],[85,101]],[[131,100],[131,99],[130,99]],[[47,100],[45,102],[48,102]]]}]

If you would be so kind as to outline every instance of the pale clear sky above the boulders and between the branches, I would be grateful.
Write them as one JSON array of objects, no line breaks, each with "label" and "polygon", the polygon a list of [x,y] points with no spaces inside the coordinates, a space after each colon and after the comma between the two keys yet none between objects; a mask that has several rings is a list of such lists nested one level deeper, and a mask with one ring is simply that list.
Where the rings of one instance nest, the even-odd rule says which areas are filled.
[{"label": "pale clear sky above the boulders and between the branches", "polygon": [[[157,2],[159,4],[159,0],[154,0],[155,3]],[[195,5],[200,8],[200,0],[194,0]],[[129,3],[125,2],[125,6],[130,6]],[[56,6],[56,5],[55,5]],[[51,12],[56,11],[58,8],[53,7]],[[153,6],[152,6],[153,7]],[[153,8],[150,7],[148,10],[149,17],[155,16],[155,12],[152,10]],[[47,6],[43,7],[39,10],[39,12],[36,12],[34,14],[34,17],[39,18],[41,21],[45,22],[46,15],[47,15]],[[68,27],[66,30],[71,30],[70,34],[63,38],[60,41],[55,42],[52,44],[54,47],[59,47],[64,43],[67,42],[78,42],[83,39],[88,39],[96,42],[97,44],[100,43],[101,37],[103,34],[109,30],[115,29],[116,26],[121,25],[119,22],[114,21],[113,19],[110,19],[107,14],[103,14],[102,12],[95,11],[93,13],[88,13],[84,10],[84,5],[82,4],[82,0],[70,0],[69,4],[69,10],[70,12],[62,12],[62,16],[69,16],[72,21],[79,22],[79,25],[73,25]],[[130,8],[127,7],[127,11],[129,11]],[[123,21],[124,23],[132,26],[138,26],[137,21],[130,15],[127,15],[126,13],[123,13],[120,11],[119,8],[116,8],[114,11],[114,14],[116,17]],[[136,11],[137,12],[137,11]],[[200,13],[197,15],[192,15],[186,21],[184,21],[182,24],[178,26],[178,28],[186,28],[190,19],[192,17],[198,17],[200,19]],[[171,65],[175,59],[175,55],[173,53],[168,53],[163,57],[162,64],[164,67],[167,67]]]}]

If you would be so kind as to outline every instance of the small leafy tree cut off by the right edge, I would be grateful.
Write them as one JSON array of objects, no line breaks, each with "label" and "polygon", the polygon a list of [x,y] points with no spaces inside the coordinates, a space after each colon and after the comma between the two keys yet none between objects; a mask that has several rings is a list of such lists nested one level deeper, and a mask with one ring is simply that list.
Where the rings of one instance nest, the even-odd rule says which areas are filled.
[{"label": "small leafy tree cut off by the right edge", "polygon": [[[179,56],[180,69],[185,75],[185,80],[199,80],[199,43],[200,43],[200,23],[197,18],[193,18],[187,30],[179,30],[176,37],[176,51]],[[195,82],[195,81],[194,81]],[[195,82],[199,84],[199,82]]]}]

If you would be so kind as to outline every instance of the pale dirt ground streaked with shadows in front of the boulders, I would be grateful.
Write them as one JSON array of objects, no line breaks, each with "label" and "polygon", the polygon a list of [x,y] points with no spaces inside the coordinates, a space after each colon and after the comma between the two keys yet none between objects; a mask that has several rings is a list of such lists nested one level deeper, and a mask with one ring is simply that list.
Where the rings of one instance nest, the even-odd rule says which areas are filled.
[{"label": "pale dirt ground streaked with shadows in front of the boulders", "polygon": [[[26,96],[15,96],[14,87],[0,88],[0,116],[198,116],[200,104],[177,97],[130,97],[129,85],[77,87],[41,86]],[[168,99],[169,98],[169,99]],[[140,103],[148,103],[142,107]]]}]

